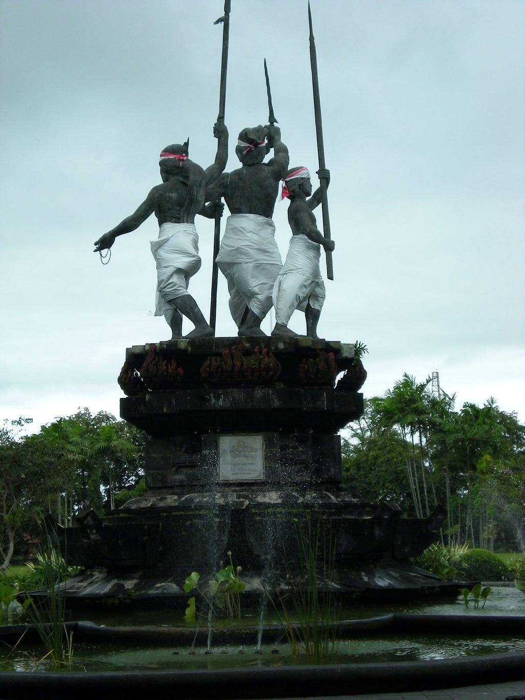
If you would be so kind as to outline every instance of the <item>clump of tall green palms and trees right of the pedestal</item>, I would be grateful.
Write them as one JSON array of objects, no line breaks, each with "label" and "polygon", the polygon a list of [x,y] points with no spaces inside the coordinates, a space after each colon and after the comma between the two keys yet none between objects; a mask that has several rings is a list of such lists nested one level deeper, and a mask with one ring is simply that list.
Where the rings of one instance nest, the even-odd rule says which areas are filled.
[{"label": "clump of tall green palms and trees right of the pedestal", "polygon": [[429,384],[404,374],[367,401],[343,442],[346,487],[397,500],[416,517],[445,505],[447,545],[492,549],[512,527],[525,552],[525,426],[492,398],[454,411],[455,396],[436,397]]}]

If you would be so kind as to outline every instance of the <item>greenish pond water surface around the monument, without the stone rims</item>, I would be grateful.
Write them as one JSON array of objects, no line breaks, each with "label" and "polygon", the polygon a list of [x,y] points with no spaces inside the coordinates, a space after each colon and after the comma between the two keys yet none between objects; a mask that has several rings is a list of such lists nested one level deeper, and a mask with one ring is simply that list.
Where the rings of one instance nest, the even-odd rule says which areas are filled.
[{"label": "greenish pond water surface around the monument, without the stone rims", "polygon": [[[465,609],[463,601],[446,603],[417,603],[395,606],[357,606],[342,611],[342,619],[366,619],[387,615],[390,612],[421,613],[426,615],[468,615],[483,617],[493,615],[525,615],[525,595],[513,587],[496,587],[491,592],[484,609],[475,609],[471,604]],[[83,619],[85,619],[85,615]],[[271,618],[267,615],[266,619]],[[102,614],[90,615],[97,624],[106,626],[184,626],[180,610],[162,612],[116,612],[109,610]],[[245,623],[257,624],[259,615],[254,613],[244,619]],[[218,621],[220,626],[228,625]],[[278,647],[276,643],[281,640]],[[78,671],[164,671],[164,670],[200,670],[207,668],[271,667],[304,664],[351,664],[395,661],[427,661],[431,659],[453,659],[473,657],[479,654],[499,652],[525,652],[524,636],[516,635],[456,635],[456,634],[392,634],[381,631],[380,636],[370,633],[358,638],[341,640],[337,649],[328,657],[319,659],[314,656],[292,654],[281,630],[276,631],[275,642],[256,645],[231,645],[228,647],[214,643],[213,635],[205,647],[191,648],[165,645],[143,647],[140,643],[130,645],[118,643],[83,643],[76,642],[73,636],[73,666]],[[6,646],[0,656],[0,671],[46,671],[47,661],[41,661],[43,652],[34,647],[25,647],[20,643],[15,650]]]}]

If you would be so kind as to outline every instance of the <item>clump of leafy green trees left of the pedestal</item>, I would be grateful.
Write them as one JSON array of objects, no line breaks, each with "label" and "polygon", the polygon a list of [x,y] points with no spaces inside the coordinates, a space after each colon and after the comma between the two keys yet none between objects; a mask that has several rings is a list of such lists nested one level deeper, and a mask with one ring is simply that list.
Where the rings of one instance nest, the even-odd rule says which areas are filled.
[{"label": "clump of leafy green trees left of the pedestal", "polygon": [[30,419],[0,428],[0,555],[8,565],[16,538],[34,530],[46,513],[71,524],[89,503],[99,514],[115,506],[115,493],[144,474],[146,436],[128,423],[84,409],[59,418],[29,436],[20,428]]}]

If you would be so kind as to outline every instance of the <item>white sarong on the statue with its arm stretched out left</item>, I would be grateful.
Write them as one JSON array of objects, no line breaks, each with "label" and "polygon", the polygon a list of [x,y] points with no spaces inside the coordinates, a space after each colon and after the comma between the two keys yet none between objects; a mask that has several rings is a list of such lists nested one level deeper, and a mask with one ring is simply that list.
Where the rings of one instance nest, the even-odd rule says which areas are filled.
[{"label": "white sarong on the statue with its arm stretched out left", "polygon": [[157,263],[155,316],[164,315],[170,323],[176,309],[169,300],[188,294],[190,277],[200,269],[195,224],[163,223],[158,239],[151,241],[151,252]]}]

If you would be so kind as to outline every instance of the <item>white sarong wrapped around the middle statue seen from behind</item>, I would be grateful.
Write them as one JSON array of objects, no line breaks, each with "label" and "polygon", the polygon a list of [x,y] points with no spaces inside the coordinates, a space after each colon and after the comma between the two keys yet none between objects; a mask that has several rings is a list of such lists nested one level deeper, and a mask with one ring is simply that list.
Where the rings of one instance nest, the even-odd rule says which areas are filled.
[{"label": "white sarong wrapped around the middle statue seen from behind", "polygon": [[282,266],[272,219],[258,214],[228,216],[216,262],[228,280],[230,313],[237,328],[246,307],[264,318],[272,308],[274,281]]}]

